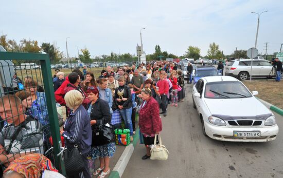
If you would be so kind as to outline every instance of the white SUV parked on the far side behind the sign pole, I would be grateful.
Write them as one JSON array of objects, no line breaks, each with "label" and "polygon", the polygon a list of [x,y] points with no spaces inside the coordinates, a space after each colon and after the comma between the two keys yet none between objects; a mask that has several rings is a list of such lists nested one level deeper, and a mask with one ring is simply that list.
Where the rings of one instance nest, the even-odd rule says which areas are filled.
[{"label": "white SUV parked on the far side behind the sign pole", "polygon": [[[251,75],[251,60],[233,60],[225,66],[225,75],[234,76],[241,81],[247,80]],[[253,60],[253,77],[274,77],[272,65],[267,60]]]}]

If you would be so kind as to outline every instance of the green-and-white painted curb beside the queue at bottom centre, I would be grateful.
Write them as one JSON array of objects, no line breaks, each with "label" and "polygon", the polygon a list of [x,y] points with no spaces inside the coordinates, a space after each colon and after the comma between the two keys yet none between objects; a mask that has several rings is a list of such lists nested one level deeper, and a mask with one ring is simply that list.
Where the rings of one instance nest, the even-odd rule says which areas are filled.
[{"label": "green-and-white painted curb beside the queue at bottom centre", "polygon": [[109,178],[120,178],[125,171],[131,156],[134,152],[136,144],[139,140],[139,128],[136,129],[136,134],[133,135],[134,141],[126,146],[125,150],[123,151],[122,155],[120,156],[118,162],[116,163],[115,167],[113,168]]}]

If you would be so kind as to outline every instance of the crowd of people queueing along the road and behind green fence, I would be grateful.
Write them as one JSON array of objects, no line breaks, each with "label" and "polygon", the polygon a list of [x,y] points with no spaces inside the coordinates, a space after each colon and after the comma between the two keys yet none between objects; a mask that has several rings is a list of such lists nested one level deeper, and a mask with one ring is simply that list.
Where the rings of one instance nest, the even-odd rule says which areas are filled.
[{"label": "crowd of people queueing along the road and behind green fence", "polygon": [[[19,82],[24,83],[23,89],[16,85]],[[105,177],[110,173],[115,142],[105,144],[95,140],[93,132],[101,125],[112,125],[113,129],[123,127],[130,130],[132,142],[136,114],[147,151],[142,159],[150,157],[148,146],[153,144],[155,134],[162,131],[160,114],[166,116],[168,104],[178,107],[178,102],[183,102],[185,97],[182,71],[176,71],[174,63],[167,61],[133,64],[118,67],[117,71],[107,66],[97,78],[86,68],[83,72],[75,69],[67,76],[57,70],[53,82],[56,102],[66,107],[67,119],[60,131],[64,144],[67,148],[78,145],[84,158],[85,169],[74,177],[91,177],[91,174]],[[50,131],[44,127],[49,124],[44,88],[30,76],[22,82],[15,75],[14,83],[15,92],[0,100],[3,120],[0,161],[5,168],[24,155],[44,154],[50,146]],[[29,139],[24,139],[25,135]],[[93,173],[88,168],[88,157],[100,162]]]}]

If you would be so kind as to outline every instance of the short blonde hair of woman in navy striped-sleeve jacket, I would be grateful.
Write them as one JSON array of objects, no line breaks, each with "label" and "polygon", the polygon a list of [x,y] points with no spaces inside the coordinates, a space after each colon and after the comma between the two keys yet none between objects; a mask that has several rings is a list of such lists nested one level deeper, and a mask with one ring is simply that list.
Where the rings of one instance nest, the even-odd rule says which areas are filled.
[{"label": "short blonde hair of woman in navy striped-sleeve jacket", "polygon": [[74,107],[82,104],[83,96],[78,90],[70,90],[65,94],[64,99],[67,107],[74,109]]}]

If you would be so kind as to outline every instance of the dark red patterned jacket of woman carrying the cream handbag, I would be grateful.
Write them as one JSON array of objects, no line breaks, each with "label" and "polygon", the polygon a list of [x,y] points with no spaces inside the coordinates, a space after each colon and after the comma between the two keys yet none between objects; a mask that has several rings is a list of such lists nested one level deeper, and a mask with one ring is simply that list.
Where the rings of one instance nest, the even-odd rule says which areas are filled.
[{"label": "dark red patterned jacket of woman carrying the cream handbag", "polygon": [[[143,106],[143,104],[141,104],[141,106]],[[145,106],[141,107],[139,110],[138,125],[141,133],[155,134],[156,131],[162,131],[159,105],[153,97],[150,97]]]}]

